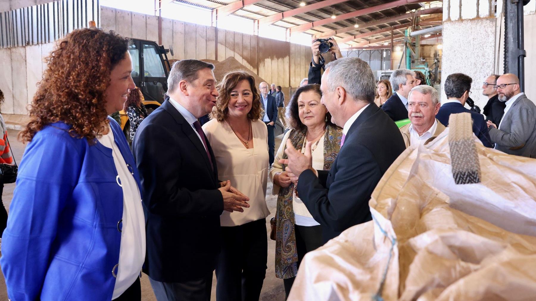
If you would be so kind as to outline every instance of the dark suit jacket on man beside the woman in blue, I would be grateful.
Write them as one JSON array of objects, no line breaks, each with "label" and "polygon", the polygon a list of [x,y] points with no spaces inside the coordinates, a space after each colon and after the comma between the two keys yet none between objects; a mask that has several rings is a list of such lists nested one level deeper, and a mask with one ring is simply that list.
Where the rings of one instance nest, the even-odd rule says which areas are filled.
[{"label": "dark suit jacket on man beside the woman in blue", "polygon": [[153,280],[196,280],[215,268],[224,202],[207,146],[212,167],[203,143],[169,98],[136,132],[132,151],[146,210],[144,272]]}]

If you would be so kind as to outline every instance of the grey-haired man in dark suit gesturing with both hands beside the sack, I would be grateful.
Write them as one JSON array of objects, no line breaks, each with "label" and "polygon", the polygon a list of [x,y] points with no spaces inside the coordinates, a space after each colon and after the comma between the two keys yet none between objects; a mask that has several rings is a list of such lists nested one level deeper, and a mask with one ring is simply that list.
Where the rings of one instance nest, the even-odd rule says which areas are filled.
[{"label": "grey-haired man in dark suit gesturing with both hands beside the sack", "polygon": [[[354,74],[348,78],[347,74]],[[356,57],[327,64],[322,104],[343,127],[339,155],[330,171],[315,171],[311,143],[306,155],[287,142],[287,173],[312,217],[322,225],[324,242],[371,220],[368,201],[376,184],[406,147],[394,122],[374,103],[376,81],[369,65]],[[407,117],[407,113],[406,113]]]}]

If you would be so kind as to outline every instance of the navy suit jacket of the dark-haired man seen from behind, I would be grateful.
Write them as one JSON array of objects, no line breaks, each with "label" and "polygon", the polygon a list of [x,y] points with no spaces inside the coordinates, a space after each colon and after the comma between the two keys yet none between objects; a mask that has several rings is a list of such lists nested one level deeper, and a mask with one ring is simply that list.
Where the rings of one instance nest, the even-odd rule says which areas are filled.
[{"label": "navy suit jacket of the dark-haired man seen from behind", "polygon": [[484,146],[487,148],[492,147],[492,140],[489,138],[488,126],[486,125],[486,121],[484,121],[482,114],[466,109],[460,103],[446,103],[440,107],[439,113],[436,115],[436,119],[439,120],[445,127],[448,127],[450,114],[464,112],[471,113],[471,118],[473,119],[473,133],[477,135]]}]

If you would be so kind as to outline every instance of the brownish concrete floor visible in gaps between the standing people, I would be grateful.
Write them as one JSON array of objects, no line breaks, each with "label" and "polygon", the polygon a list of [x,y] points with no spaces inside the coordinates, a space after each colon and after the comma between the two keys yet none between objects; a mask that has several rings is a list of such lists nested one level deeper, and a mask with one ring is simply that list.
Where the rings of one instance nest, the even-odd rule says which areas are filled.
[{"label": "brownish concrete floor visible in gaps between the standing people", "polygon": [[[13,154],[15,156],[15,159],[17,160],[17,163],[20,162],[20,159],[24,153],[25,144],[20,143],[16,140],[15,137],[18,135],[18,131],[16,130],[9,130],[9,136],[10,136],[10,142],[11,142],[11,148],[13,149]],[[281,136],[276,137],[276,150],[279,148],[279,144],[281,143]],[[9,214],[9,205],[11,204],[11,199],[13,197],[13,189],[15,188],[15,184],[5,184],[4,186],[4,192],[2,194],[2,201],[4,203],[5,208],[8,210]],[[276,214],[276,196],[271,195],[272,191],[272,184],[270,181],[268,181],[268,188],[267,188],[267,196],[266,196],[266,203],[268,205],[268,208],[270,209],[270,216],[266,218],[266,237],[269,235],[270,231],[270,219]],[[281,279],[278,279],[274,272],[274,251],[276,249],[276,242],[268,240],[268,262],[267,266],[268,269],[266,270],[266,278],[264,279],[264,285],[262,292],[260,293],[260,300],[268,301],[268,300],[285,300],[285,290],[283,288],[283,281]],[[1,254],[1,253],[0,253]],[[142,300],[143,301],[154,301],[156,298],[154,297],[153,290],[151,288],[151,284],[149,283],[147,275],[143,274],[142,276]],[[98,288],[95,288],[98,289]],[[212,281],[212,297],[211,300],[215,300],[215,291],[216,291],[216,277],[214,276]],[[5,281],[4,281],[4,275],[0,272],[0,300],[7,300],[8,294],[6,292],[5,287]]]}]

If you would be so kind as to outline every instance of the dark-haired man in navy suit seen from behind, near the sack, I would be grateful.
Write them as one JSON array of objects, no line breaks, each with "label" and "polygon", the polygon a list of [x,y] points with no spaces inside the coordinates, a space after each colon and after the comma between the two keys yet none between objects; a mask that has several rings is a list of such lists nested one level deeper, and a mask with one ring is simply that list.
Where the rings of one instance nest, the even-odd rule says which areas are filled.
[{"label": "dark-haired man in navy suit seen from behind, near the sack", "polygon": [[445,127],[449,126],[450,114],[467,112],[473,119],[473,133],[482,141],[484,146],[492,147],[492,141],[489,138],[488,126],[482,114],[466,109],[465,102],[471,94],[471,83],[473,79],[463,73],[453,73],[446,77],[445,94],[448,100],[443,103],[437,113],[436,118]]}]

